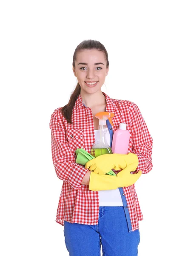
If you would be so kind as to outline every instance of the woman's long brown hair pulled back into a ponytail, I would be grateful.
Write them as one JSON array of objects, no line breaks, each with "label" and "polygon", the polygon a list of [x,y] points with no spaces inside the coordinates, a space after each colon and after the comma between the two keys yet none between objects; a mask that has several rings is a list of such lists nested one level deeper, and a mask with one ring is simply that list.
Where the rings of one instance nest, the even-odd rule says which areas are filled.
[{"label": "woman's long brown hair pulled back into a ponytail", "polygon": [[[77,59],[77,53],[80,50],[84,50],[84,49],[97,49],[101,52],[104,52],[105,54],[105,59],[107,61],[107,65],[106,67],[108,68],[109,66],[109,62],[108,62],[108,53],[107,50],[105,49],[104,45],[102,45],[99,41],[95,41],[95,40],[84,40],[83,42],[81,42],[77,48],[74,51],[74,55],[73,55],[73,67],[75,68],[75,61]],[[61,108],[61,113],[63,114],[63,116],[65,117],[65,119],[71,124],[71,116],[72,116],[72,111],[75,105],[75,102],[78,98],[78,96],[80,95],[80,84],[77,83],[74,91],[71,93],[71,97],[69,99],[69,102],[67,105],[65,105],[63,108]]]}]

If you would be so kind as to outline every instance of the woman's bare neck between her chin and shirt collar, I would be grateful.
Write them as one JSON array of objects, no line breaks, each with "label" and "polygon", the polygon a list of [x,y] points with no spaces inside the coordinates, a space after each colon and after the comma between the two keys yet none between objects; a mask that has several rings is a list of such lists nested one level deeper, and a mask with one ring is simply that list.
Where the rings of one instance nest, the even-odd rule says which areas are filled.
[{"label": "woman's bare neck between her chin and shirt collar", "polygon": [[85,92],[80,93],[83,103],[88,108],[93,108],[96,105],[106,105],[105,95],[102,91],[87,94]]}]

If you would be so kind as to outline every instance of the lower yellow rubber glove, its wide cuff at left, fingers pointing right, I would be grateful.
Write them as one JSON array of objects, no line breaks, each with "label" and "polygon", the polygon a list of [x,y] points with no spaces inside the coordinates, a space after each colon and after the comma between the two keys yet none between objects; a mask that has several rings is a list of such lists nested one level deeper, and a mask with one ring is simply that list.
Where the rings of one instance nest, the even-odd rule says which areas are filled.
[{"label": "lower yellow rubber glove, its wide cuff at left, fingers pointing right", "polygon": [[[141,176],[141,171],[137,174],[131,174],[130,172],[135,170],[135,165],[123,169],[117,174],[117,176],[100,175],[94,172],[90,174],[89,190],[100,191],[100,190],[111,190],[121,187],[127,187],[133,185]],[[119,175],[119,176],[118,176]]]}]

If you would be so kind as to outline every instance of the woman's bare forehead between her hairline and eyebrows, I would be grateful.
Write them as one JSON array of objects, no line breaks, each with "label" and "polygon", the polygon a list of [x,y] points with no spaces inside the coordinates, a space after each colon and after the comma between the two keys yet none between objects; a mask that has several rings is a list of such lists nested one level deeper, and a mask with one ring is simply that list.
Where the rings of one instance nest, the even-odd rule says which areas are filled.
[{"label": "woman's bare forehead between her hairline and eyebrows", "polygon": [[106,63],[105,55],[103,52],[96,49],[91,50],[81,50],[77,53],[77,62],[86,62],[88,64],[95,62]]}]

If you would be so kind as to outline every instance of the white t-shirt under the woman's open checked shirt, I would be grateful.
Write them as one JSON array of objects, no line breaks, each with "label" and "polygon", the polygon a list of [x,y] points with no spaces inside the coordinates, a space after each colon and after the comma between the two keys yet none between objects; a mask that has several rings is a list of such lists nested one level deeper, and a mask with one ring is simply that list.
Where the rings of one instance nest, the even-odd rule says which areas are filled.
[{"label": "white t-shirt under the woman's open checked shirt", "polygon": [[[94,130],[95,138],[97,137],[100,130]],[[111,139],[107,128],[107,143],[110,145]],[[101,190],[99,194],[99,206],[122,206],[122,199],[119,189]]]}]

